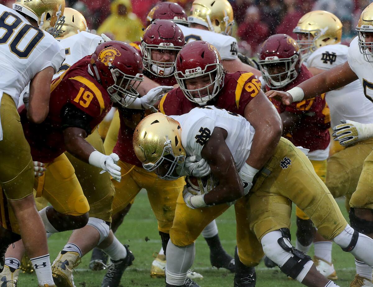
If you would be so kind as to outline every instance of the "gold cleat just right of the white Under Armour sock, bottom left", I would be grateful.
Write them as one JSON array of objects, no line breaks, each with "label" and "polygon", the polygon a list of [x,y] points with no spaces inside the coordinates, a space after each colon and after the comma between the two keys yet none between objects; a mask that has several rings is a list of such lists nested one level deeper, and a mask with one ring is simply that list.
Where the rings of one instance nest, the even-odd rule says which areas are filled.
[{"label": "gold cleat just right of the white Under Armour sock, bottom left", "polygon": [[61,251],[52,264],[54,283],[58,287],[76,287],[72,273],[80,262],[81,258],[78,252]]}]

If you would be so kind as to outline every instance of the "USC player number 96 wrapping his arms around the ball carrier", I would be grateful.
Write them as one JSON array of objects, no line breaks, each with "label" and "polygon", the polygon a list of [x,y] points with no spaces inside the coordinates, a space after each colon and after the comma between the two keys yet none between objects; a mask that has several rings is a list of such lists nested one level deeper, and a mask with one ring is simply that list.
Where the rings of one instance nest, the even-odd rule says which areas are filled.
[{"label": "USC player number 96 wrapping his arms around the ball carrier", "polygon": [[[256,129],[253,144],[255,152],[250,154],[248,160],[250,165],[242,172],[252,181],[257,171],[271,157],[282,132],[279,114],[266,100],[261,91],[260,81],[251,72],[226,73],[219,52],[205,41],[193,41],[181,49],[176,59],[175,78],[179,88],[164,95],[159,103],[159,111],[163,114],[181,115],[194,107],[210,104],[250,118]],[[195,164],[195,167],[197,168],[198,164]],[[254,266],[263,256],[254,234],[242,227],[247,225],[245,209],[246,202],[242,198],[235,204],[237,237],[247,238],[247,240],[237,242],[236,287],[255,285]],[[201,214],[202,217],[194,217],[194,227],[184,226],[178,229],[179,232],[173,234],[173,243],[177,243],[178,246],[192,244],[200,235],[204,225],[219,216],[219,212],[220,210],[217,213],[209,212],[207,215]],[[173,273],[173,271],[168,272]],[[167,273],[166,268],[166,278],[171,273]]]}]

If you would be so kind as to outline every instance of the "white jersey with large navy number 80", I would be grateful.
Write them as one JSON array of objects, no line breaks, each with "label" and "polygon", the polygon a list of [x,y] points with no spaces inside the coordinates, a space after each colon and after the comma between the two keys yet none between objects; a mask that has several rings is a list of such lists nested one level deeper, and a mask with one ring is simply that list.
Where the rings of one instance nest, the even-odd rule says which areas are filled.
[{"label": "white jersey with large navy number 80", "polygon": [[0,4],[0,91],[18,105],[29,81],[47,67],[60,68],[65,52],[46,31],[34,27],[21,14]]}]

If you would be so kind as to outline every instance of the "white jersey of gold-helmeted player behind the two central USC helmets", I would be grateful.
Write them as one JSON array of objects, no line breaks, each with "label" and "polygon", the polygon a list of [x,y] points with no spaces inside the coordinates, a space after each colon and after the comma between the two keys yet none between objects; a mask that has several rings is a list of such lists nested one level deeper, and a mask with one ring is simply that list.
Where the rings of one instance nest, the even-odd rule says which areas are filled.
[{"label": "white jersey of gold-helmeted player behind the two central USC helmets", "polygon": [[199,40],[206,41],[216,47],[222,60],[235,60],[238,58],[238,46],[235,38],[184,25],[178,26],[184,34],[186,43]]}]

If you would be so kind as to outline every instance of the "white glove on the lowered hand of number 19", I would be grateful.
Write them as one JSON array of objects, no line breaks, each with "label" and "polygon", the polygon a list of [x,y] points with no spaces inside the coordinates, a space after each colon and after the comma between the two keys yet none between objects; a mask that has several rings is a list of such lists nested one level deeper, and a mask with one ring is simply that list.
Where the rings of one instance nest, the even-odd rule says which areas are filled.
[{"label": "white glove on the lowered hand of number 19", "polygon": [[118,161],[119,157],[117,154],[105,155],[101,154],[101,152],[99,151],[93,151],[90,154],[90,158],[88,159],[88,162],[90,164],[103,169],[100,173],[108,172],[113,177],[113,179],[115,179],[117,182],[120,182],[120,166],[117,166],[116,164]]}]

